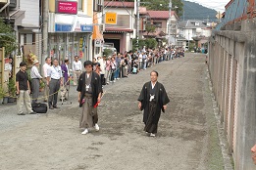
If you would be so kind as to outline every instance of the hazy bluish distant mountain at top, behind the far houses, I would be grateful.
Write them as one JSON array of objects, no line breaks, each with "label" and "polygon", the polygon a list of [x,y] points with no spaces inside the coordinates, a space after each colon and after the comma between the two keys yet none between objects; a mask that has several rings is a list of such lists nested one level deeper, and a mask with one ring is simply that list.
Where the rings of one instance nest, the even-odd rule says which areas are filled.
[{"label": "hazy bluish distant mountain at top, behind the far houses", "polygon": [[204,7],[200,4],[190,1],[184,1],[183,3],[183,16],[179,18],[180,21],[187,20],[200,20],[200,21],[216,21],[217,11]]}]

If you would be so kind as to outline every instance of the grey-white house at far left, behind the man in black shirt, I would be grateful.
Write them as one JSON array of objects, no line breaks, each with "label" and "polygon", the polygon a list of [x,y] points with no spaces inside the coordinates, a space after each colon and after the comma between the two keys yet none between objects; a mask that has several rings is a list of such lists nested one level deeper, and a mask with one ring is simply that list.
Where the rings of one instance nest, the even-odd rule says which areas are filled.
[{"label": "grey-white house at far left, behind the man in black shirt", "polygon": [[31,52],[39,60],[41,56],[40,6],[41,0],[0,1],[0,15],[14,29],[18,51],[24,56]]}]

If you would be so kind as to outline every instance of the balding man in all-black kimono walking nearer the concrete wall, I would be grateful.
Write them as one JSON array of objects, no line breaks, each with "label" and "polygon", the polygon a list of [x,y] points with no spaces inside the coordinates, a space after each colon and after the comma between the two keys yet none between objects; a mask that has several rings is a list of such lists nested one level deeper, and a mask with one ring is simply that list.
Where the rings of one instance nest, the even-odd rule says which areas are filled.
[{"label": "balding man in all-black kimono walking nearer the concrete wall", "polygon": [[157,81],[158,72],[150,73],[151,81],[144,84],[138,98],[138,108],[144,110],[143,122],[144,131],[155,137],[157,133],[158,121],[161,115],[161,109],[165,112],[167,104],[170,102],[165,87]]}]

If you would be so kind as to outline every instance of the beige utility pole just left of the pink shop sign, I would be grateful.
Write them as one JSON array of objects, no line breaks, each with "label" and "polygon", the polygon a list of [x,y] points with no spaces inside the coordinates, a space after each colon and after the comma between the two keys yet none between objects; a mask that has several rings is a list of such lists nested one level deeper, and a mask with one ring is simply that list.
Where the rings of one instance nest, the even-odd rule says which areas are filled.
[{"label": "beige utility pole just left of the pink shop sign", "polygon": [[42,29],[42,58],[41,64],[44,63],[45,59],[48,57],[48,9],[49,0],[43,0],[43,29]]}]

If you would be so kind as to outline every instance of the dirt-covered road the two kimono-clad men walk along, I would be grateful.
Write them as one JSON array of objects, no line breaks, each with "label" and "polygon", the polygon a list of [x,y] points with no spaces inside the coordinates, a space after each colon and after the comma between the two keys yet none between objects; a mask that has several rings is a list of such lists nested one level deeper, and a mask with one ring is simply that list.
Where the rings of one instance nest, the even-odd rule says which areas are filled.
[{"label": "dirt-covered road the two kimono-clad men walk along", "polygon": [[[153,69],[171,99],[156,138],[142,131],[136,102]],[[16,106],[1,106],[0,169],[223,169],[206,69],[203,55],[188,54],[106,86],[101,129],[85,136],[78,129],[75,87],[73,104],[47,114],[19,117]]]}]

